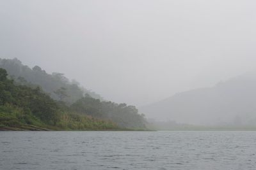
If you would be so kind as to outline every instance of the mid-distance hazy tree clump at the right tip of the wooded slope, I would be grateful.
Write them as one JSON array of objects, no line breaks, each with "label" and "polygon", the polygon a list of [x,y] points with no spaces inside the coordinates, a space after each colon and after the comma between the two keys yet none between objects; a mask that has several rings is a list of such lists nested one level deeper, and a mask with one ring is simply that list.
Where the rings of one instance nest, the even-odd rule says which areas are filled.
[{"label": "mid-distance hazy tree clump at the right tip of the wooded slope", "polygon": [[132,129],[146,128],[144,115],[138,114],[135,106],[127,106],[125,103],[116,104],[86,96],[72,104],[70,108],[77,113],[85,113],[93,117],[112,120],[119,127]]}]

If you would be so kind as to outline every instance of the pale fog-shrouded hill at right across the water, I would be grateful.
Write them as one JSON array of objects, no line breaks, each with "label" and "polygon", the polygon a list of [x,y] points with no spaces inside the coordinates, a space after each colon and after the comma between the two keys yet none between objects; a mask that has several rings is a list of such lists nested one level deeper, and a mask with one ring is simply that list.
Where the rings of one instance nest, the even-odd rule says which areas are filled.
[{"label": "pale fog-shrouded hill at right across the water", "polygon": [[256,73],[180,92],[139,108],[147,117],[196,125],[256,124]]}]

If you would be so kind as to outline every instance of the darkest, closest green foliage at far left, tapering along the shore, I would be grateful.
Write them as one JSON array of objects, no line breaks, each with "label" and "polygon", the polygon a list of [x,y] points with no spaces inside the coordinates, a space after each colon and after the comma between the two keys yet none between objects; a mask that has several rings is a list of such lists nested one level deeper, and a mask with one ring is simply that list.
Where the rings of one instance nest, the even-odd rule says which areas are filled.
[{"label": "darkest, closest green foliage at far left, tapering along the shore", "polygon": [[[39,87],[15,85],[0,68],[0,127],[18,129],[117,129],[109,121],[65,112]],[[68,108],[68,106],[67,106]]]}]

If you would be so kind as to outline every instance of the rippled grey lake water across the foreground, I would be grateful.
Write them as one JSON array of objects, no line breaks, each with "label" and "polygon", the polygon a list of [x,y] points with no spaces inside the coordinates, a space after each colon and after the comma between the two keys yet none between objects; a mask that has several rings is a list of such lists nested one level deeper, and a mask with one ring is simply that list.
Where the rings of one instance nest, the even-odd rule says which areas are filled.
[{"label": "rippled grey lake water across the foreground", "polygon": [[0,132],[0,169],[256,169],[256,132]]}]

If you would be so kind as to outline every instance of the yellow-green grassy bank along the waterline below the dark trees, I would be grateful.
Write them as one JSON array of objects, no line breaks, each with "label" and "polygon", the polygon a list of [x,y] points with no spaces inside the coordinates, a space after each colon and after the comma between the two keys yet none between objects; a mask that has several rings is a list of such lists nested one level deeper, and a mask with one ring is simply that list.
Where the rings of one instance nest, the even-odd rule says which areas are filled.
[{"label": "yellow-green grassy bank along the waterline below the dark trees", "polygon": [[28,111],[13,105],[0,106],[0,130],[2,131],[109,131],[118,126],[108,120],[99,120],[76,113],[60,113],[55,125],[42,122]]}]

